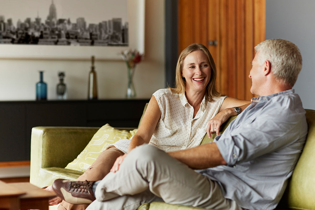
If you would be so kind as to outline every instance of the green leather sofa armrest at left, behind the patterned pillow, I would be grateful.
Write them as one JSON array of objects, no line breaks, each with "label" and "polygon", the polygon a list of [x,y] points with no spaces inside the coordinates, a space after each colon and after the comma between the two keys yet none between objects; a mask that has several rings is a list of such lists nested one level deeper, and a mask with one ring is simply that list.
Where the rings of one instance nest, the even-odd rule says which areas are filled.
[{"label": "green leather sofa armrest at left, behind the patterned pillow", "polygon": [[36,184],[41,168],[66,167],[80,154],[98,129],[95,127],[32,128],[30,182]]}]

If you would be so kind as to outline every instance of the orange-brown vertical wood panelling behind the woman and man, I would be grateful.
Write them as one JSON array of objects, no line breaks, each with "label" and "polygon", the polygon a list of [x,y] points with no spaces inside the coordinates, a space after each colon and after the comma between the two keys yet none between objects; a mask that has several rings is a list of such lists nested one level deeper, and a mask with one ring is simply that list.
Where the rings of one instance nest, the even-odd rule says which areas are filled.
[{"label": "orange-brown vertical wood panelling behind the woman and man", "polygon": [[217,89],[249,100],[248,75],[254,47],[265,40],[265,20],[265,0],[178,0],[179,53],[194,42],[205,45],[217,67]]}]

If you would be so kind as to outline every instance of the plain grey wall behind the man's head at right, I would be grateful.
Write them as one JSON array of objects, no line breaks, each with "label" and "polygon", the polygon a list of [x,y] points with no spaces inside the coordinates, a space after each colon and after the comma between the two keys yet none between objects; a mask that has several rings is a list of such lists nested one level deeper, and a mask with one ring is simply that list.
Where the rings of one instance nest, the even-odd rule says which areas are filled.
[{"label": "plain grey wall behind the man's head at right", "polygon": [[266,0],[266,39],[286,39],[301,50],[303,67],[293,89],[306,109],[315,109],[314,10],[314,0]]}]

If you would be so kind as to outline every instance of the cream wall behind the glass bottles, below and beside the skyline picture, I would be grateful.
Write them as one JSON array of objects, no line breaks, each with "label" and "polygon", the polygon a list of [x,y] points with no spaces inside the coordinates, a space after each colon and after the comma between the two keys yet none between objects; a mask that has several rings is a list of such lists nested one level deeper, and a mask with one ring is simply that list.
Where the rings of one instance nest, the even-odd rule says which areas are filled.
[{"label": "cream wall behind the glass bottles, below and beside the skyline picture", "polygon": [[[164,1],[146,1],[145,60],[134,76],[137,98],[151,98],[165,87]],[[1,47],[1,45],[0,45]],[[127,68],[123,61],[96,61],[99,99],[124,98]],[[56,99],[58,71],[65,71],[69,99],[87,99],[90,61],[80,60],[2,60],[0,58],[0,101],[34,100],[38,70],[44,70],[48,99]]]}]

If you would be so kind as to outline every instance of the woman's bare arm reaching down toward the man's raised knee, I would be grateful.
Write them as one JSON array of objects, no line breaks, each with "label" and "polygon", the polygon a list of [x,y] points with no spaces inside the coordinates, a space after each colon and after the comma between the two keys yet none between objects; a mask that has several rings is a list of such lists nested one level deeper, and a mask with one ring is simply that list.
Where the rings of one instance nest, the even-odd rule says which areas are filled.
[{"label": "woman's bare arm reaching down toward the man's raised knee", "polygon": [[[142,118],[141,124],[138,128],[137,133],[132,137],[128,152],[134,149],[136,146],[148,144],[152,137],[152,134],[157,126],[157,122],[161,118],[160,107],[157,104],[157,100],[154,96],[149,101],[148,107],[146,108],[146,112]],[[126,157],[127,153],[117,157],[111,172],[116,172],[119,169],[119,165],[123,162],[123,159]]]}]

